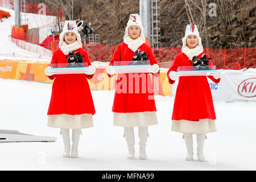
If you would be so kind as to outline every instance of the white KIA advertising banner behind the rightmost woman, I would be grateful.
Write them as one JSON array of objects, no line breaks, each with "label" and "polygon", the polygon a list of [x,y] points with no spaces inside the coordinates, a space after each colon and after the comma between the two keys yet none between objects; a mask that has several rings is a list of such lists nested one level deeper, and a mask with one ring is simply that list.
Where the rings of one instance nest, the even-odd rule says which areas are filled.
[{"label": "white KIA advertising banner behind the rightmost woman", "polygon": [[[221,81],[216,84],[208,78],[213,101],[256,101],[256,69],[247,71],[221,71]],[[176,93],[178,81],[172,86]]]}]

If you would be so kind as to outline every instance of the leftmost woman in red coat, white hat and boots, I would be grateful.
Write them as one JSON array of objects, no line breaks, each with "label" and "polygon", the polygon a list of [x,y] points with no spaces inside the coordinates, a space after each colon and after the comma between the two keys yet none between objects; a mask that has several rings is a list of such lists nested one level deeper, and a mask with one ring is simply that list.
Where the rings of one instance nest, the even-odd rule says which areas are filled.
[{"label": "leftmost woman in red coat, white hat and boots", "polygon": [[[46,75],[55,79],[52,85],[51,101],[48,109],[48,125],[61,129],[64,142],[64,158],[77,158],[77,147],[81,129],[93,127],[92,115],[95,114],[92,94],[87,79],[93,77],[95,68],[90,64],[88,53],[81,48],[80,34],[75,21],[65,21],[60,34],[59,49],[53,52],[51,64],[68,64],[70,52],[76,55],[80,52],[84,64],[89,69],[85,74],[53,75],[46,68]],[[69,138],[72,129],[72,151]],[[71,155],[70,155],[71,151]]]}]

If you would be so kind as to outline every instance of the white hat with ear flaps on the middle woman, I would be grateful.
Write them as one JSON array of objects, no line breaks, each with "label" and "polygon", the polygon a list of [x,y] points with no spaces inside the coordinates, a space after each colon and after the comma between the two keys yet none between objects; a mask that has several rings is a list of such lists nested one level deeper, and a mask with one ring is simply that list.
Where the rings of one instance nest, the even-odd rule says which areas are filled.
[{"label": "white hat with ear flaps on the middle woman", "polygon": [[141,16],[139,16],[138,14],[131,14],[129,16],[129,20],[128,20],[127,26],[125,28],[125,36],[123,37],[123,40],[125,40],[127,38],[127,36],[130,36],[129,35],[129,27],[130,26],[139,26],[139,28],[141,28],[140,36],[142,37],[142,40],[145,43],[146,39],[145,39],[144,32],[143,32]]}]

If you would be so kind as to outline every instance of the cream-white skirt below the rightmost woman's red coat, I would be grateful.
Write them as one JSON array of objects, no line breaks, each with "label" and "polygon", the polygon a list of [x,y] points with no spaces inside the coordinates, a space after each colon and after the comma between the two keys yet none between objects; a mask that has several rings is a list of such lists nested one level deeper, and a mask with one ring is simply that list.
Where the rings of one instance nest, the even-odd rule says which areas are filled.
[{"label": "cream-white skirt below the rightmost woman's red coat", "polygon": [[172,131],[180,133],[212,133],[217,131],[214,120],[199,119],[199,121],[172,120]]}]

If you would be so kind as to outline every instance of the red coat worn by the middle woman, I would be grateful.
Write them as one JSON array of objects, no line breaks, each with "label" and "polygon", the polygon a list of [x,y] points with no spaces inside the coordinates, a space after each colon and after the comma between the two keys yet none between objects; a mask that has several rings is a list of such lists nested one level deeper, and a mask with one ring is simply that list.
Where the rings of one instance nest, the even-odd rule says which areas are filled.
[{"label": "red coat worn by the middle woman", "polygon": [[[152,48],[150,46],[148,46],[147,44],[142,44],[142,46],[139,47],[138,49],[141,49],[141,52],[145,51],[147,55],[150,55],[148,57],[148,60],[150,60],[151,65],[158,64],[158,62],[155,59],[154,53],[152,52]],[[114,61],[132,61],[133,55],[134,55],[134,52],[131,51],[130,48],[128,48],[127,44],[120,43],[115,48],[113,58],[110,61],[109,65],[114,65]],[[134,76],[133,82],[129,81],[129,76],[130,77]],[[140,82],[139,85],[137,84],[135,85],[136,78],[139,78],[140,76],[146,78],[144,84]],[[122,78],[126,77],[127,81],[126,82],[122,81],[122,79],[120,79],[121,77]],[[123,88],[126,87],[127,92],[119,93],[117,90],[117,85],[115,86],[115,96],[114,96],[112,111],[115,113],[137,113],[137,112],[143,112],[143,111],[156,111],[154,92],[151,92],[152,83],[151,83],[151,80],[148,79],[148,77],[150,78],[149,73],[118,74],[117,85],[121,84],[121,81],[125,82],[126,84],[123,84]],[[133,84],[133,89],[131,89],[131,86],[132,86],[131,84]],[[135,92],[136,86],[137,86],[137,89],[139,88],[139,92]],[[144,86],[150,89],[146,89],[146,92],[144,92],[144,89],[143,89],[145,88]],[[130,93],[129,89],[133,90],[133,92]]]}]

